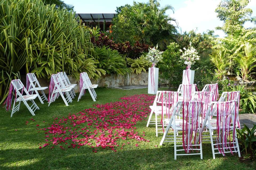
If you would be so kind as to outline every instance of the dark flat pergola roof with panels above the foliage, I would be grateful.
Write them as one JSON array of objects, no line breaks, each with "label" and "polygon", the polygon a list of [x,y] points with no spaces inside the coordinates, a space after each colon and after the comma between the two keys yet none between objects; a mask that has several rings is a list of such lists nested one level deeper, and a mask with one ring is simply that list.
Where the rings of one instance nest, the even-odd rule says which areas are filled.
[{"label": "dark flat pergola roof with panels above the foliage", "polygon": [[75,14],[75,17],[79,17],[83,22],[112,22],[112,19],[117,14]]}]

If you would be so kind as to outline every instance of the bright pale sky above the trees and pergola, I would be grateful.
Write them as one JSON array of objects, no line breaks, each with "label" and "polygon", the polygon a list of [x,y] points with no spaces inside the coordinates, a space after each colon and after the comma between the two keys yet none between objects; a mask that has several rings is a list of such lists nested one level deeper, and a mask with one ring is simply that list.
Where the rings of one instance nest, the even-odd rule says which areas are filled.
[{"label": "bright pale sky above the trees and pergola", "polygon": [[[64,0],[65,3],[72,4],[77,13],[115,13],[116,7],[133,4],[133,0]],[[136,2],[148,2],[148,0],[136,0]],[[220,37],[225,36],[222,31],[216,31],[215,27],[221,26],[221,22],[214,12],[220,0],[159,0],[161,6],[170,4],[174,7],[175,13],[171,10],[167,14],[177,19],[181,31],[197,29],[197,32],[206,32],[213,29]],[[248,8],[253,10],[256,16],[256,0],[251,0]],[[245,23],[245,27],[253,27],[250,22]]]}]

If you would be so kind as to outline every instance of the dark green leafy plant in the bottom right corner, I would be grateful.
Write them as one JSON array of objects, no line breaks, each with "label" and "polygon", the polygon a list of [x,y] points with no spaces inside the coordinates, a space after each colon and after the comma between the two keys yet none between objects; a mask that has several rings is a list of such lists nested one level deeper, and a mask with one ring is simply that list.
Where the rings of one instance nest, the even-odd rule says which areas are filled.
[{"label": "dark green leafy plant in the bottom right corner", "polygon": [[243,159],[255,160],[256,157],[256,125],[252,129],[244,124],[243,129],[237,129],[239,148],[241,153],[245,152]]}]

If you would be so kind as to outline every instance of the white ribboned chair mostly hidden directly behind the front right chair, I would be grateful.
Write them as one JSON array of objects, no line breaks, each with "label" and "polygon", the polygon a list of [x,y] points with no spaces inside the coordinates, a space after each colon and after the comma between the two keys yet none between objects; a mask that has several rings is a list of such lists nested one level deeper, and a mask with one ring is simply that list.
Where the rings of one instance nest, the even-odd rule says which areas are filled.
[{"label": "white ribboned chair mostly hidden directly behind the front right chair", "polygon": [[241,129],[240,121],[239,121],[239,105],[240,105],[240,91],[231,91],[231,92],[223,92],[221,94],[221,97],[219,98],[219,101],[231,101],[231,100],[237,100],[237,114],[236,114],[236,127],[238,129]]}]

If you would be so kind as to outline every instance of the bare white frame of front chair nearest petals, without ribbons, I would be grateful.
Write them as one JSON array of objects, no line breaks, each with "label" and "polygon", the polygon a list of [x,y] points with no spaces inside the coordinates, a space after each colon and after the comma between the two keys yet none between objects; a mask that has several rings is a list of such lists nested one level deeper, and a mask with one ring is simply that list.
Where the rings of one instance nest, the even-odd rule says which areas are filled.
[{"label": "bare white frame of front chair nearest petals, without ribbons", "polygon": [[[182,135],[178,135],[178,132],[182,131],[182,128],[176,129],[177,127],[176,127],[176,124],[175,124],[176,120],[177,121],[182,121],[181,119],[177,119],[176,118],[176,117],[182,117],[182,113],[180,113],[180,109],[182,108],[182,103],[183,103],[183,101],[178,101],[178,103],[176,104],[176,106],[174,108],[174,112],[172,114],[172,117],[171,117],[171,119],[169,120],[169,122],[168,122],[168,124],[166,126],[164,135],[163,135],[162,140],[160,142],[160,146],[163,145],[163,142],[174,142],[174,159],[175,160],[177,159],[177,155],[200,155],[201,159],[203,159],[202,141],[200,141],[199,144],[196,143],[196,144],[192,144],[191,145],[192,147],[200,146],[200,149],[196,149],[196,148],[188,149],[188,150],[199,150],[200,153],[177,154],[177,152],[179,152],[179,151],[185,151],[184,149],[177,149],[177,147],[182,147],[182,145],[177,145],[177,142],[182,142]],[[189,108],[188,108],[188,110],[190,112],[192,110],[191,109],[191,103],[203,103],[203,102],[189,101]],[[197,106],[200,106],[200,104],[197,105]],[[200,120],[199,120],[200,112],[201,112],[201,107],[198,107],[198,115],[196,115],[197,116],[197,120],[198,120],[197,130],[199,130],[201,128],[200,127]],[[189,115],[190,115],[190,113],[189,113]],[[169,131],[170,128],[173,129],[173,132]],[[191,126],[189,126],[189,129],[188,129],[188,136],[190,136],[190,131],[191,131]],[[173,133],[173,135],[168,135],[168,133]],[[194,131],[193,131],[193,134],[195,134]],[[198,132],[198,136],[201,138],[201,133]],[[197,142],[197,141],[195,141],[195,142]]]}]

